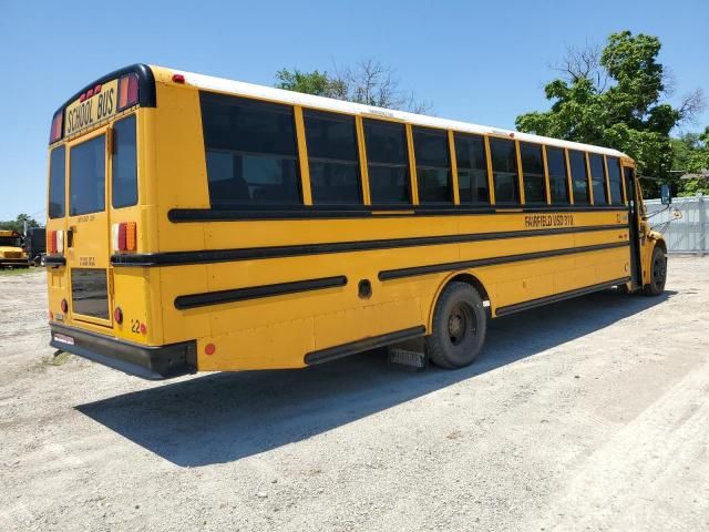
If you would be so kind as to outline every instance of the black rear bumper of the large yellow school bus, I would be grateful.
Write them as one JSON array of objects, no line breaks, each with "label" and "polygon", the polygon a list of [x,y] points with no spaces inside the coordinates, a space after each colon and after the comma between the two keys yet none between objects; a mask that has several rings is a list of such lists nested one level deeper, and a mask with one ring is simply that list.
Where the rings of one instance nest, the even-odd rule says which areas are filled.
[{"label": "black rear bumper of the large yellow school bus", "polygon": [[[194,340],[150,347],[64,325],[50,324],[50,346],[143,379],[168,379],[197,371]],[[71,338],[73,344],[58,340],[56,334]]]}]

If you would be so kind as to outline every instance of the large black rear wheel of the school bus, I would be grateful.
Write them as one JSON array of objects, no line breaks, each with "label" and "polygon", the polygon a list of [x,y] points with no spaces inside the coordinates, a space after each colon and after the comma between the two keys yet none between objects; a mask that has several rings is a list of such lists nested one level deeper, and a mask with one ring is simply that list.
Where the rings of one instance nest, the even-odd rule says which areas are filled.
[{"label": "large black rear wheel of the school bus", "polygon": [[467,283],[450,283],[433,311],[427,350],[433,364],[455,369],[475,360],[485,341],[487,316],[477,290]]}]

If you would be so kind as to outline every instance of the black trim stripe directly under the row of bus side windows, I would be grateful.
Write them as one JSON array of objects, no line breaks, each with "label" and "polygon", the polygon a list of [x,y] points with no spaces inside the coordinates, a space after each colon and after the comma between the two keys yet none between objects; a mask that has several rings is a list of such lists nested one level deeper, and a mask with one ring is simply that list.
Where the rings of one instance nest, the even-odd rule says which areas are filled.
[{"label": "black trim stripe directly under the row of bus side windows", "polygon": [[[399,212],[398,212],[399,211]],[[363,218],[363,217],[401,217],[401,216],[461,216],[477,214],[504,214],[504,213],[597,213],[599,211],[618,211],[627,213],[625,205],[537,205],[523,207],[522,205],[497,205],[485,207],[467,206],[414,206],[391,205],[377,206],[362,205],[357,207],[318,207],[302,205],[275,206],[265,208],[172,208],[167,218],[174,223],[188,222],[237,222],[248,219],[309,219],[309,218]]]}]

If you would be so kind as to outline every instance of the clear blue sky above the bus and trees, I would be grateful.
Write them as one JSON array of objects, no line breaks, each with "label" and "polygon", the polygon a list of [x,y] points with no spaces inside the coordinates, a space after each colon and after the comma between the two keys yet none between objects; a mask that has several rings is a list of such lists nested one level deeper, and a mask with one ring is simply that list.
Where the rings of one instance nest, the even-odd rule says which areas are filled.
[{"label": "clear blue sky above the bus and trees", "polygon": [[[328,70],[376,58],[436,115],[513,127],[517,114],[548,106],[547,65],[566,45],[603,43],[623,29],[660,38],[675,101],[698,86],[709,96],[707,28],[706,0],[0,0],[0,219],[20,212],[44,219],[52,113],[126,64],[273,84],[284,66]],[[705,125],[709,111],[689,129]]]}]

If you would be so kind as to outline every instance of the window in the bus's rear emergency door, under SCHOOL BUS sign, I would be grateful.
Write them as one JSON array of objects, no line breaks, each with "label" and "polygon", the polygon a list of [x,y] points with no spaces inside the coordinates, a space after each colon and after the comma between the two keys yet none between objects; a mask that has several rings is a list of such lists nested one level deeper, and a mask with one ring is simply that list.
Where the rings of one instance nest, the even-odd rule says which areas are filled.
[{"label": "window in the bus's rear emergency door, under SCHOOL BUS sign", "polygon": [[100,213],[105,208],[106,136],[96,136],[71,149],[70,214]]}]

